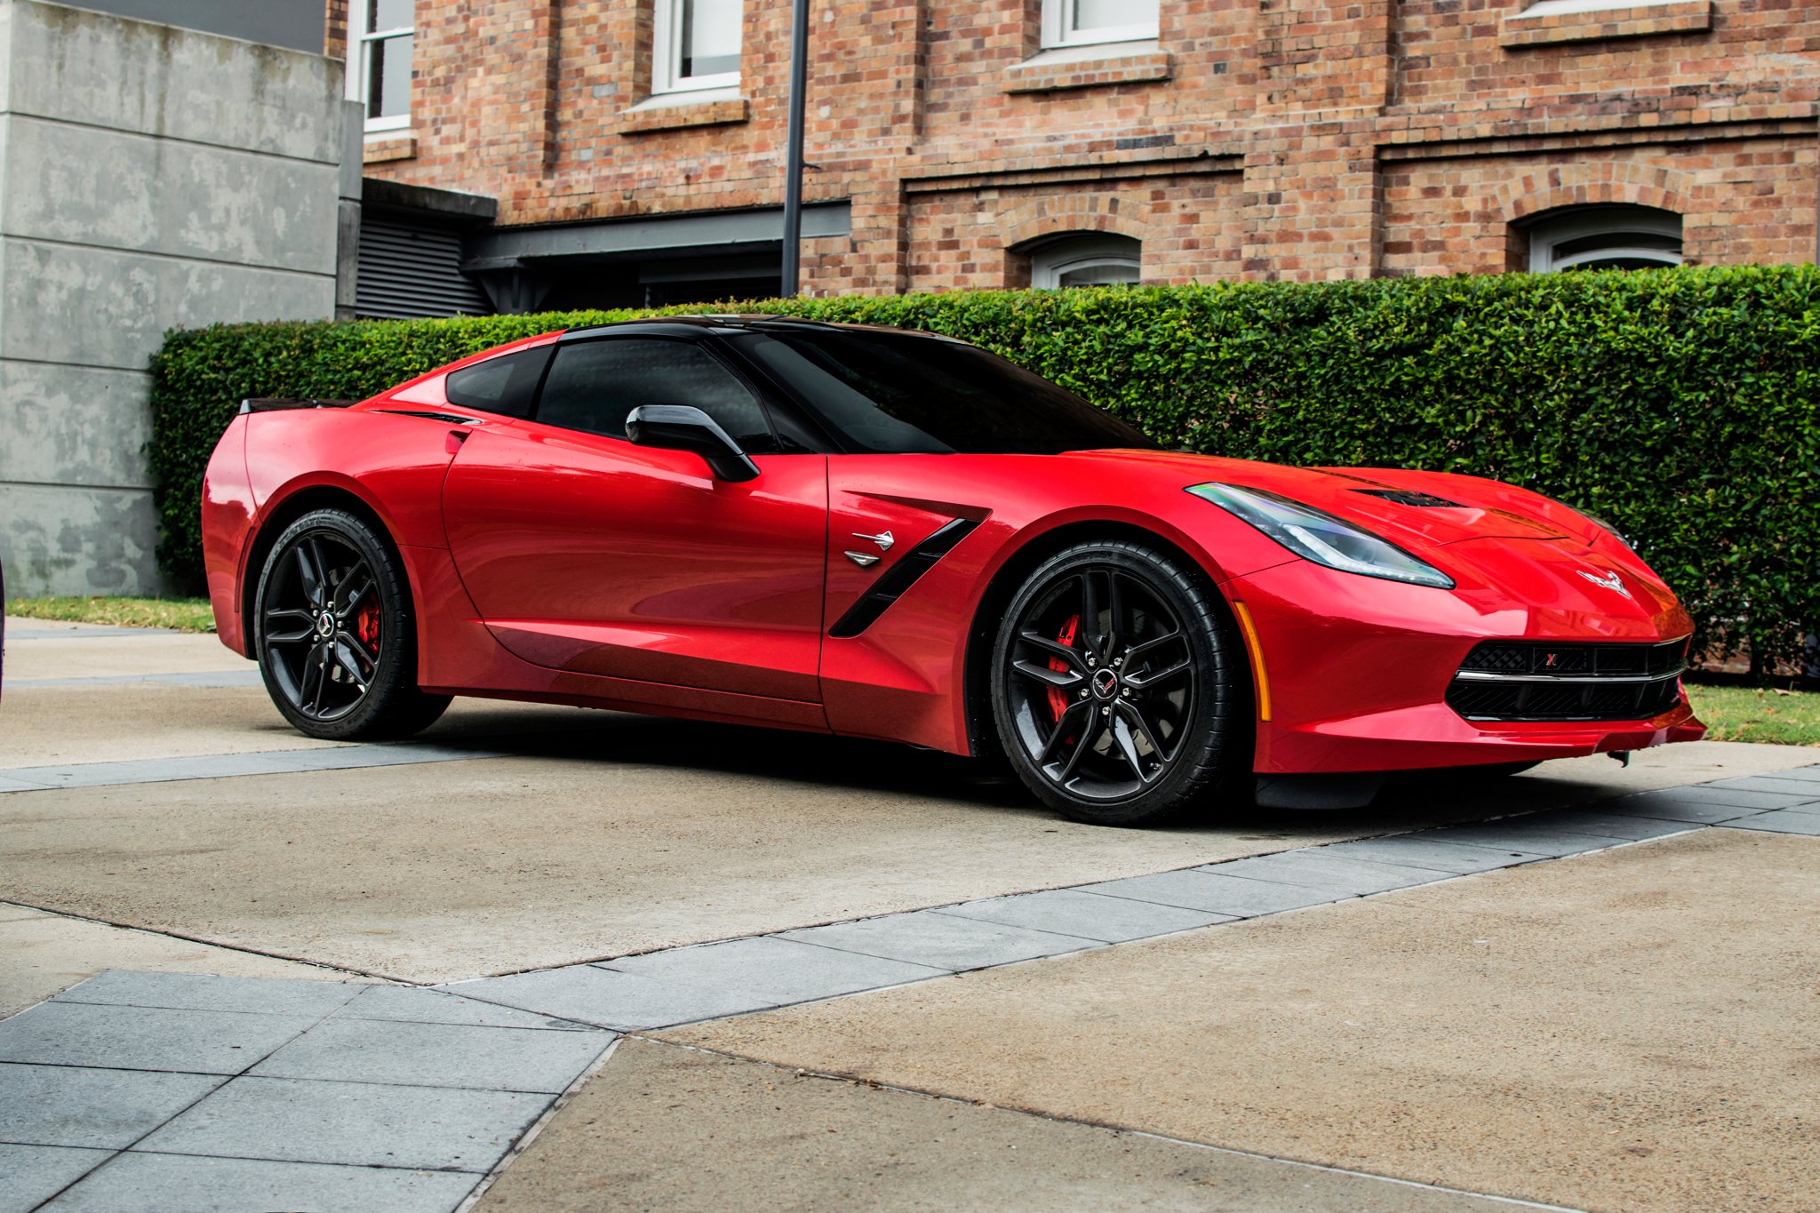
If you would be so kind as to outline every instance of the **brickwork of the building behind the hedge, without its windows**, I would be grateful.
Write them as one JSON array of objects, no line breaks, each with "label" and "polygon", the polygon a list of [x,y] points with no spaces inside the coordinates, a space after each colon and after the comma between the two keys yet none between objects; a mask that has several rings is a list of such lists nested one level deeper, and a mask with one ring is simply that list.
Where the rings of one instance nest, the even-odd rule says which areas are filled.
[{"label": "brickwork of the building behind the hedge, without its windows", "polygon": [[[1502,271],[1585,202],[1676,211],[1689,260],[1815,255],[1816,5],[1163,0],[1156,45],[1061,64],[1039,0],[810,7],[804,195],[854,216],[812,293],[1017,286],[1061,231],[1138,236],[1147,282]],[[788,15],[746,0],[737,98],[653,109],[652,0],[419,0],[368,173],[506,226],[777,206]]]}]

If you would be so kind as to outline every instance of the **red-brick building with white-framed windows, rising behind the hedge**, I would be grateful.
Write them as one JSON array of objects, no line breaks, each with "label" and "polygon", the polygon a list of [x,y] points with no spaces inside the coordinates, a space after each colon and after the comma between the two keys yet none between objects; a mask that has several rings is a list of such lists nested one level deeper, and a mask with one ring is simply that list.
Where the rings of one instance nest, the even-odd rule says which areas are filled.
[{"label": "red-brick building with white-framed windows, rising behind the hedge", "polygon": [[[812,295],[1804,262],[1820,238],[1811,0],[810,13]],[[368,105],[362,311],[775,293],[788,22],[329,0]]]}]

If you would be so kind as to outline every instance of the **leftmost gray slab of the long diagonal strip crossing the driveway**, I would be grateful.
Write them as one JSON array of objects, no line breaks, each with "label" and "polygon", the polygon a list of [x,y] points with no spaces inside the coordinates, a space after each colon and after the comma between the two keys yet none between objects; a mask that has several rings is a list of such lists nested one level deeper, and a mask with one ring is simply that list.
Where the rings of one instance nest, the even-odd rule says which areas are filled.
[{"label": "leftmost gray slab of the long diagonal strip crossing the driveway", "polygon": [[592,964],[542,973],[488,977],[446,989],[482,1002],[557,1015],[595,1028],[644,1029],[693,1024],[703,1018],[744,1015],[777,1006],[775,998],[741,989],[708,989],[657,982]]}]

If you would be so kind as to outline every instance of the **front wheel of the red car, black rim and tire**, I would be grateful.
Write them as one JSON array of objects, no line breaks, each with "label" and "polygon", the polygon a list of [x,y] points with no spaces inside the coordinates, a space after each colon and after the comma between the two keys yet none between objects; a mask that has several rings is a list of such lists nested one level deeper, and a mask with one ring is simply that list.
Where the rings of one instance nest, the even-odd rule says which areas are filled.
[{"label": "front wheel of the red car, black rim and tire", "polygon": [[1017,777],[1063,817],[1156,826],[1236,802],[1250,678],[1225,604],[1178,556],[1068,547],[1012,596],[992,646],[992,717]]}]

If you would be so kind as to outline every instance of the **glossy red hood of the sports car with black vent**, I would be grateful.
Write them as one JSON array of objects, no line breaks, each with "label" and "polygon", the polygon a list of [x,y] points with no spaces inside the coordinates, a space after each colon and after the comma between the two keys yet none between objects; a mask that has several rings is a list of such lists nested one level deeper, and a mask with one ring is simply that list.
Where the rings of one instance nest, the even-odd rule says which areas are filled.
[{"label": "glossy red hood of the sports car with black vent", "polygon": [[1218,480],[1287,498],[1356,522],[1410,549],[1480,538],[1522,538],[1582,547],[1600,527],[1540,493],[1480,476],[1398,467],[1285,467],[1174,451],[1094,451],[1088,458],[1141,462],[1183,487]]}]

